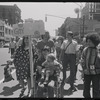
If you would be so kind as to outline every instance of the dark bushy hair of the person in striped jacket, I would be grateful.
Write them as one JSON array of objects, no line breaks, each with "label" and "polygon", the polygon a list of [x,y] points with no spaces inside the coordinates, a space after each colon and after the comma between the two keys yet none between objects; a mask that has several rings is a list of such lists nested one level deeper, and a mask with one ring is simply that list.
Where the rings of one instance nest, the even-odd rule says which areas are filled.
[{"label": "dark bushy hair of the person in striped jacket", "polygon": [[91,40],[92,43],[95,46],[97,46],[100,43],[100,36],[97,33],[89,33],[89,34],[87,34],[87,36],[86,36],[86,42],[87,42],[88,39]]}]

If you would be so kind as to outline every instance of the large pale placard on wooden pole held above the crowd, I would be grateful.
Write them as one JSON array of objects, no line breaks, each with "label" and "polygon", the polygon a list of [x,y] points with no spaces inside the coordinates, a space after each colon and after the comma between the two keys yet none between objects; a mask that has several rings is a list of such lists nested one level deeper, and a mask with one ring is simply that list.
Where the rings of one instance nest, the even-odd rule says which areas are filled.
[{"label": "large pale placard on wooden pole held above the crowd", "polygon": [[44,22],[36,20],[34,22],[25,22],[13,25],[13,35],[23,37],[25,35],[33,35],[37,37],[45,33]]}]

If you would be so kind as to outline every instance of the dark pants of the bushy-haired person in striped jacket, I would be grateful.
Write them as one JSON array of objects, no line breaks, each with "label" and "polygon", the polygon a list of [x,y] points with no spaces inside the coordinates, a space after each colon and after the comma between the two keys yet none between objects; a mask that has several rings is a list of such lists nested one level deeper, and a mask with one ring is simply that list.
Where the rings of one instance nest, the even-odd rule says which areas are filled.
[{"label": "dark pants of the bushy-haired person in striped jacket", "polygon": [[100,75],[84,75],[84,91],[83,96],[85,98],[91,98],[90,95],[90,85],[92,82],[92,88],[93,88],[93,98],[100,97],[99,92],[99,81],[100,81]]}]

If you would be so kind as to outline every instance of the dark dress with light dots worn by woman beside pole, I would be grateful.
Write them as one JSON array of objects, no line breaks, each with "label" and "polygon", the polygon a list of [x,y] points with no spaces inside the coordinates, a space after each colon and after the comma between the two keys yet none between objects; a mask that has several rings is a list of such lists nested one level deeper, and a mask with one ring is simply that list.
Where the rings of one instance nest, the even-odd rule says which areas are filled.
[{"label": "dark dress with light dots worn by woman beside pole", "polygon": [[21,49],[19,47],[16,50],[14,65],[16,67],[17,80],[24,80],[30,77],[30,57],[29,49]]}]

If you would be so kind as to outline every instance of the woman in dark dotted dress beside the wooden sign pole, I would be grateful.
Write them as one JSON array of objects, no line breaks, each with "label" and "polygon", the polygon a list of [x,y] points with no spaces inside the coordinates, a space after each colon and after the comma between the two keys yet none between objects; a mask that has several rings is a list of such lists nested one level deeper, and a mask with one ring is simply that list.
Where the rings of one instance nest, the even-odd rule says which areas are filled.
[{"label": "woman in dark dotted dress beside the wooden sign pole", "polygon": [[16,67],[16,77],[22,86],[20,97],[23,96],[26,89],[24,80],[28,84],[28,94],[31,89],[30,78],[30,57],[29,57],[29,40],[27,36],[23,37],[22,45],[17,48],[15,53],[14,65]]}]

